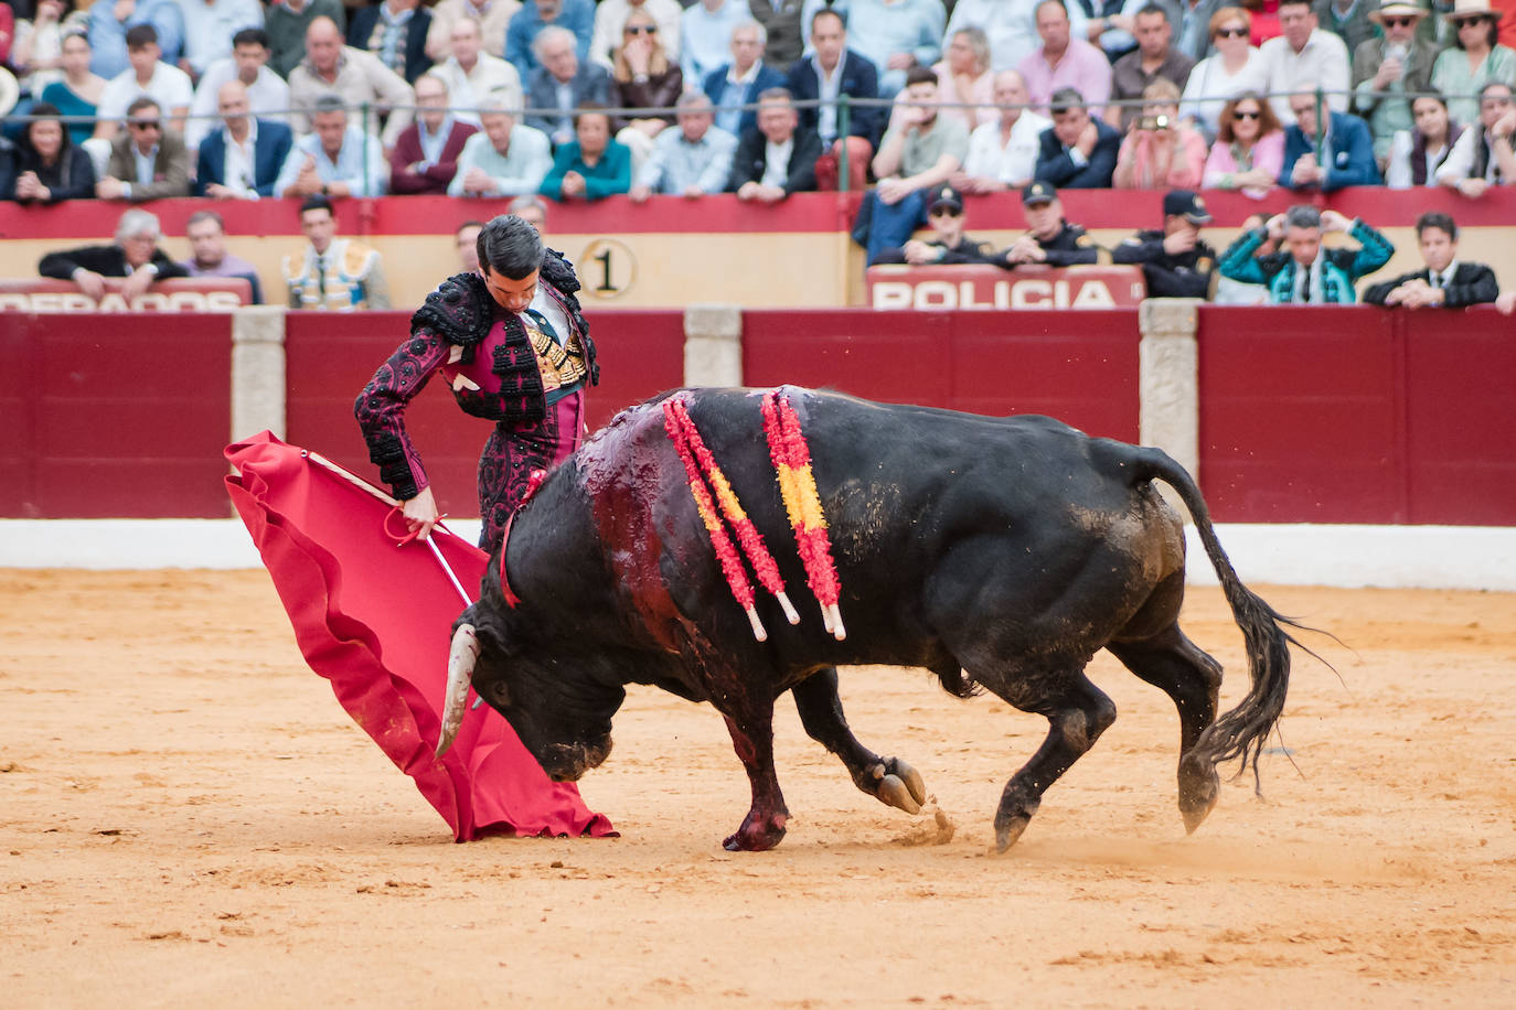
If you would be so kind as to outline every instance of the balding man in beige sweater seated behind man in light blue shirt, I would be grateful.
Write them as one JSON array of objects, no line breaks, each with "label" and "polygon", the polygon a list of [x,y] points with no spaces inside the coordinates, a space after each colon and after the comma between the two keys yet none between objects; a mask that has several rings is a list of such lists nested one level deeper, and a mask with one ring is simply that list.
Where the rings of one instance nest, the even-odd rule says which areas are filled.
[{"label": "balding man in beige sweater seated behind man in light blue shirt", "polygon": [[[338,97],[355,111],[367,106],[364,132],[379,136],[385,150],[394,147],[400,132],[411,126],[415,92],[373,53],[343,45],[343,33],[330,18],[315,18],[305,30],[305,61],[290,71],[290,108],[296,112],[294,132],[308,133],[311,112],[323,95]],[[384,133],[381,115],[388,114]]]}]

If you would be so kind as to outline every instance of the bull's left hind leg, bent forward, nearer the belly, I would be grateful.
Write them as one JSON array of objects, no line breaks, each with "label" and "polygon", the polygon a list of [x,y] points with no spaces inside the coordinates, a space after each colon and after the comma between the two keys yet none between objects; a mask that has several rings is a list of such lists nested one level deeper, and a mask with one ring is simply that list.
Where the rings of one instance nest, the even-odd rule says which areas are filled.
[{"label": "bull's left hind leg, bent forward, nearer the belly", "polygon": [[1048,787],[1116,721],[1116,703],[1081,671],[1025,671],[1004,678],[970,672],[988,690],[1022,712],[1046,716],[1049,724],[1043,745],[1011,775],[1001,793],[1001,806],[994,812],[994,843],[1004,853],[1026,830]]}]

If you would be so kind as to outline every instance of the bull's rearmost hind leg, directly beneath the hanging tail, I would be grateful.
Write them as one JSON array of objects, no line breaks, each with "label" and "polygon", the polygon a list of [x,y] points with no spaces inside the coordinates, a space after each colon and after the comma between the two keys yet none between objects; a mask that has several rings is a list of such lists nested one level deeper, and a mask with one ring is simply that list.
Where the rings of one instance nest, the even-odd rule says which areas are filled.
[{"label": "bull's rearmost hind leg, directly beneath the hanging tail", "polygon": [[1179,710],[1179,813],[1193,831],[1216,806],[1216,766],[1192,753],[1211,722],[1220,698],[1222,665],[1170,624],[1143,642],[1111,642],[1105,648],[1149,684],[1161,687]]}]

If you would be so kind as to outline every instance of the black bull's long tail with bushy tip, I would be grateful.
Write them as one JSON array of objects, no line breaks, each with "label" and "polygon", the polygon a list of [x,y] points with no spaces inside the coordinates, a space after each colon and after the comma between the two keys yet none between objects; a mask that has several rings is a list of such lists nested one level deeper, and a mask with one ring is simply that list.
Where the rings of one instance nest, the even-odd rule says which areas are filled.
[{"label": "black bull's long tail with bushy tip", "polygon": [[[1225,712],[1201,734],[1201,739],[1190,751],[1201,760],[1219,765],[1234,757],[1242,759],[1237,772],[1242,774],[1252,765],[1254,781],[1258,775],[1258,756],[1263,745],[1284,712],[1284,697],[1290,687],[1290,645],[1299,647],[1286,627],[1302,628],[1304,625],[1283,616],[1264,600],[1248,589],[1237,577],[1237,571],[1216,539],[1216,528],[1211,525],[1210,509],[1205,498],[1195,485],[1190,474],[1173,462],[1166,453],[1151,448],[1139,451],[1135,468],[1139,480],[1154,477],[1172,486],[1195,519],[1195,531],[1205,547],[1207,557],[1220,580],[1222,592],[1231,606],[1233,618],[1242,628],[1243,642],[1248,653],[1248,671],[1252,686],[1248,697],[1231,712]],[[1304,647],[1302,647],[1304,648]],[[1308,650],[1307,650],[1308,651]]]}]

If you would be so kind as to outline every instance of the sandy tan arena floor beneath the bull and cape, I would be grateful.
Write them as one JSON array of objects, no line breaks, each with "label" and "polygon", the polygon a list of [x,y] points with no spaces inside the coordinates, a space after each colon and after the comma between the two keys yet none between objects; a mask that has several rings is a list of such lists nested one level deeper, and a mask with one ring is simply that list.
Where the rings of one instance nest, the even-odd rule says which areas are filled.
[{"label": "sandy tan arena floor beneath the bull and cape", "polygon": [[[708,707],[635,690],[581,783],[622,837],[453,845],[296,651],[267,575],[0,571],[0,1005],[1510,1007],[1516,597],[1261,588],[1333,630],[1293,763],[1192,837],[1178,721],[1101,656],[1116,725],[988,853],[1046,724],[844,671],[858,736],[957,824],[858,793],[781,703],[793,812]],[[1246,687],[1217,591],[1186,627]],[[1339,678],[1340,674],[1340,678]]]}]

